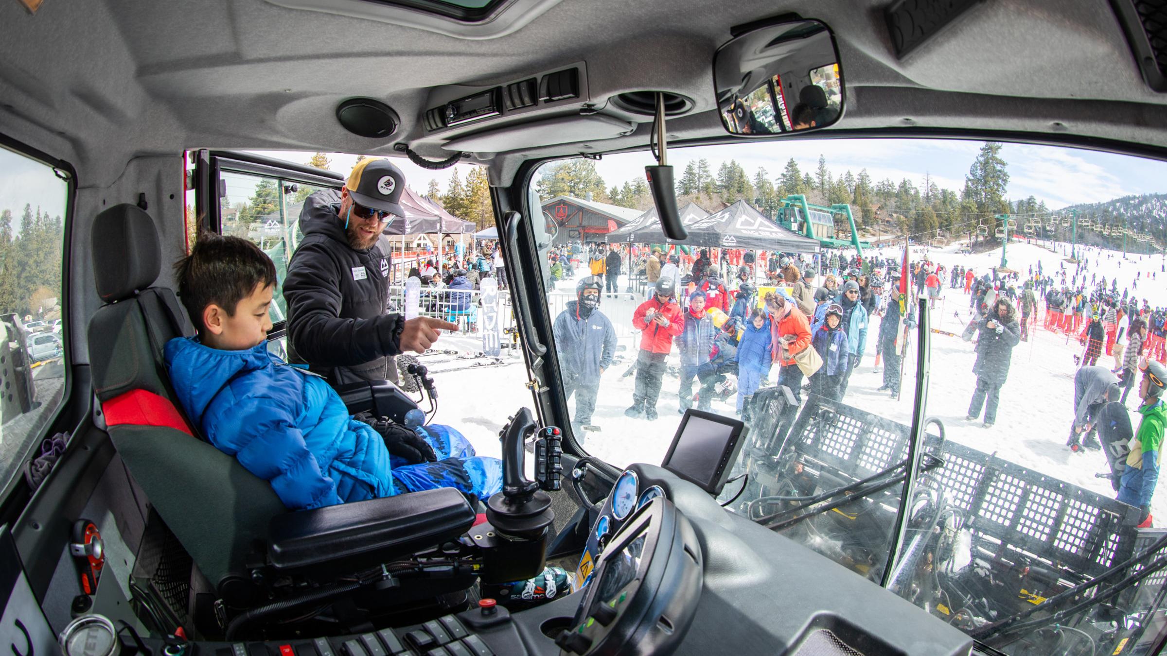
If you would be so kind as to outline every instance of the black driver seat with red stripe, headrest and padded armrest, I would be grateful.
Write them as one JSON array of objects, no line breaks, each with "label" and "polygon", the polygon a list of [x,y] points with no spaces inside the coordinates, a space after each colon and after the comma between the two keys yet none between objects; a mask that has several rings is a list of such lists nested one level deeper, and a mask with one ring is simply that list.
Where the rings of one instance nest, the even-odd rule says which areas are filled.
[{"label": "black driver seat with red stripe, headrest and padded armrest", "polygon": [[[92,385],[118,454],[151,504],[228,606],[252,607],[256,581],[328,582],[459,538],[475,522],[452,488],[288,511],[267,481],[207,442],[170,386],[162,347],[194,333],[174,292],[152,286],[161,266],[154,222],[135,205],[93,222],[93,277],[106,305],[90,320]],[[418,578],[394,599],[433,596]],[[464,589],[473,585],[459,581]],[[412,594],[411,594],[412,593]]]}]

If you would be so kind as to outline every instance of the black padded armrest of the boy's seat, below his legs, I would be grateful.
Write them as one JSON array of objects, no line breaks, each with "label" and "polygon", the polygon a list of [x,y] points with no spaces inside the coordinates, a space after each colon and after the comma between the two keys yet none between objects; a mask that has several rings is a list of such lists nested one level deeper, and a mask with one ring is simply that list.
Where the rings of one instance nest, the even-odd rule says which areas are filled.
[{"label": "black padded armrest of the boy's seat, below his legs", "polygon": [[456,539],[475,518],[454,488],[285,512],[268,524],[267,561],[288,572],[356,572]]}]

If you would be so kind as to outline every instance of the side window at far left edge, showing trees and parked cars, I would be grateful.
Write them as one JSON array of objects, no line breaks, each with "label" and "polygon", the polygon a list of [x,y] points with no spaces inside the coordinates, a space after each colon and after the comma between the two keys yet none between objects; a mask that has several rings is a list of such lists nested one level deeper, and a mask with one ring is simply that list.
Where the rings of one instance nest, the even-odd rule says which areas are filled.
[{"label": "side window at far left edge, showing trees and parked cars", "polygon": [[0,484],[18,474],[64,396],[68,197],[50,166],[0,148]]}]

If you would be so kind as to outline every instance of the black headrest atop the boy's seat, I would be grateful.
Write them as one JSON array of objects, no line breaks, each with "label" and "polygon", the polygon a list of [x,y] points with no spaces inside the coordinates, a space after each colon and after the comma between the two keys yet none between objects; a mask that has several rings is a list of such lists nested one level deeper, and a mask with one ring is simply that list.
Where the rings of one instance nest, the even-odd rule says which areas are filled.
[{"label": "black headrest atop the boy's seat", "polygon": [[158,279],[162,249],[154,219],[123,203],[97,215],[91,237],[97,294],[110,303],[127,299]]}]

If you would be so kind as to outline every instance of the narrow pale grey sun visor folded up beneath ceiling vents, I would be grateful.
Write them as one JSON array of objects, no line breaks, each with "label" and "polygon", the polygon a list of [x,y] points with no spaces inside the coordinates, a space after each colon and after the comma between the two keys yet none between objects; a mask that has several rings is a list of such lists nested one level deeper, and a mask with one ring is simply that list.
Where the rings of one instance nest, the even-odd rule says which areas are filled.
[{"label": "narrow pale grey sun visor folded up beneath ceiling vents", "polygon": [[571,116],[460,137],[447,141],[442,148],[463,153],[505,153],[520,148],[615,139],[627,137],[635,131],[635,123],[602,114]]}]

